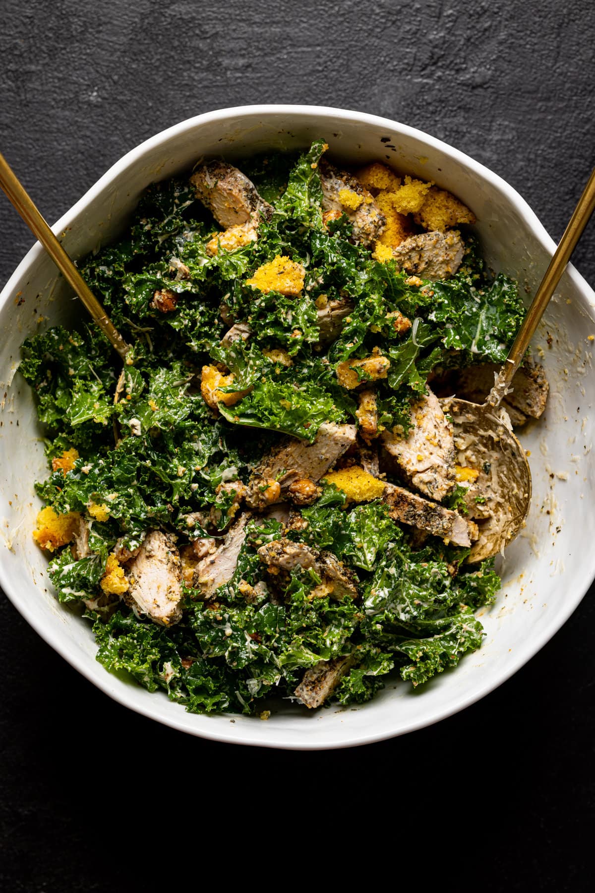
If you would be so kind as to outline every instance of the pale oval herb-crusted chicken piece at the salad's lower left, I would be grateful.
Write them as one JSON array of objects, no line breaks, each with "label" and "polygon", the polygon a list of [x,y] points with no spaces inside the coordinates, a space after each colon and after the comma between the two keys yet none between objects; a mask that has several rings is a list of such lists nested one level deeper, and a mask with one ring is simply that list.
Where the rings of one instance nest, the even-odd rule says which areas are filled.
[{"label": "pale oval herb-crusted chicken piece at the salad's lower left", "polygon": [[169,533],[151,530],[126,570],[129,588],[124,600],[136,615],[147,614],[161,626],[182,616],[182,566]]}]

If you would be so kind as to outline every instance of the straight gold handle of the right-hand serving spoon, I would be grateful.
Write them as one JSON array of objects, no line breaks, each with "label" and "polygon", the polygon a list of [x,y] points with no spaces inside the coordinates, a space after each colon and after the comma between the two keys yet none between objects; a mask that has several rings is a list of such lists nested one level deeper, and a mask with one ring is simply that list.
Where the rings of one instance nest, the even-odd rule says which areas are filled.
[{"label": "straight gold handle of the right-hand serving spoon", "polygon": [[570,260],[570,255],[572,255],[579,238],[583,235],[583,230],[589,222],[593,210],[595,210],[595,170],[592,171],[583,195],[579,198],[578,204],[574,208],[574,213],[550,261],[550,266],[541,280],[541,285],[537,289],[533,303],[527,311],[523,325],[516,333],[515,343],[510,348],[506,363],[500,369],[487,398],[486,403],[488,405],[498,406],[503,397],[506,396],[508,386],[525,356],[541,316],[545,308],[550,304],[550,298],[558,286],[562,273],[566,270],[566,264]]}]

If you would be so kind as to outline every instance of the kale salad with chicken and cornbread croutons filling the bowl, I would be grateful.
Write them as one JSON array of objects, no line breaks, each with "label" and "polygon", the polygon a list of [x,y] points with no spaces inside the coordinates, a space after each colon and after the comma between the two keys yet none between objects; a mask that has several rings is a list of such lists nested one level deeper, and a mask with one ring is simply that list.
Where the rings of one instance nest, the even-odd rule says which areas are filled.
[{"label": "kale salad with chicken and cornbread croutons filling the bowl", "polygon": [[[23,345],[33,536],[97,660],[195,713],[357,704],[481,646],[500,587],[441,397],[481,400],[524,316],[458,198],[382,163],[200,161],[79,269],[131,345]],[[515,425],[547,397],[517,373]]]}]

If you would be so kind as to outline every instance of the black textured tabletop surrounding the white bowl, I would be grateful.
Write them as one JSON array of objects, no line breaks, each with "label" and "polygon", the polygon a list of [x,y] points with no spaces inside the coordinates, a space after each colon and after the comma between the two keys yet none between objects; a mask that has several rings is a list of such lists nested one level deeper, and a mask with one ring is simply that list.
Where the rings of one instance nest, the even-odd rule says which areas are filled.
[{"label": "black textured tabletop surrounding the white bowl", "polygon": [[[0,21],[0,146],[49,221],[128,149],[228,105],[335,105],[426,130],[507,179],[554,238],[593,163],[591,0],[0,0]],[[0,200],[1,284],[31,241]],[[594,248],[591,224],[574,256],[591,283]],[[223,877],[235,860],[266,884],[271,851],[300,872],[346,855],[393,867],[393,882],[409,864],[429,883],[427,854],[450,829],[449,887],[591,889],[592,593],[464,713],[314,754],[218,745],[136,716],[5,599],[0,612],[1,889],[153,889],[115,854],[151,869],[184,852],[193,886],[201,866]]]}]

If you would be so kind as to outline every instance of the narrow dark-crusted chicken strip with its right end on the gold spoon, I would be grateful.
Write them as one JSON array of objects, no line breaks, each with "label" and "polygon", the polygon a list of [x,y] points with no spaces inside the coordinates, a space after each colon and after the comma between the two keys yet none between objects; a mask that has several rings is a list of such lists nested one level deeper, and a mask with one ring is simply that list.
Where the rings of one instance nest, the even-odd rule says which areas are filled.
[{"label": "narrow dark-crusted chicken strip with its right end on the gold spoon", "polygon": [[457,512],[429,502],[417,493],[411,493],[394,484],[386,484],[383,500],[389,507],[393,521],[410,524],[419,530],[427,530],[455,546],[470,546],[471,538],[477,538],[477,527],[467,522]]}]

